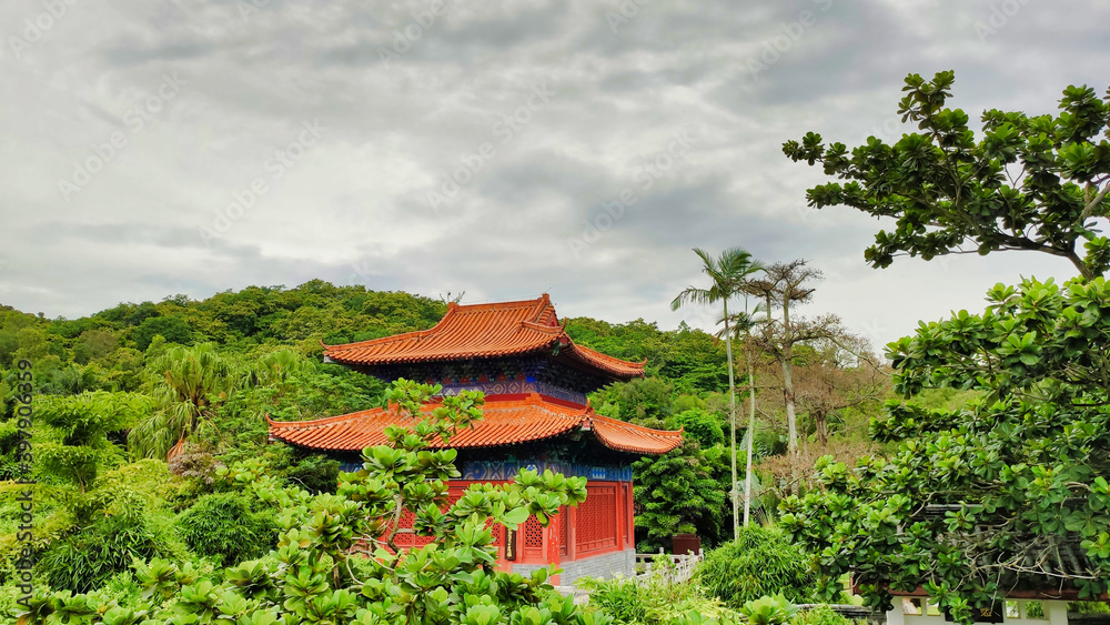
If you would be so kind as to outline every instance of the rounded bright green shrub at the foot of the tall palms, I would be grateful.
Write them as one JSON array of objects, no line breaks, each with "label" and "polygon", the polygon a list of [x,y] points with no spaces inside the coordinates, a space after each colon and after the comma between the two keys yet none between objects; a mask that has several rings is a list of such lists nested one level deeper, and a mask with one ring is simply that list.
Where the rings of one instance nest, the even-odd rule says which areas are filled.
[{"label": "rounded bright green shrub at the foot of the tall palms", "polygon": [[813,596],[815,579],[808,562],[806,553],[777,528],[741,527],[739,541],[706,554],[696,577],[734,608],[777,594],[805,603]]}]

